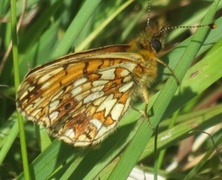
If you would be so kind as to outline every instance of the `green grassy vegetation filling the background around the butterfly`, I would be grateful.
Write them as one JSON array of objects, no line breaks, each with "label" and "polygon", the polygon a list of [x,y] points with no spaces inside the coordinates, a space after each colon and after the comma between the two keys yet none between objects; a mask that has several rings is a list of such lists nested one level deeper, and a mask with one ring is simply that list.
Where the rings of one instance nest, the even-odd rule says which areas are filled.
[{"label": "green grassy vegetation filling the background around the butterfly", "polygon": [[[163,52],[172,50],[161,59],[174,69],[181,84],[178,88],[167,68],[159,67],[158,79],[150,90],[149,120],[154,127],[161,121],[157,153],[164,151],[154,158],[153,130],[137,111],[129,110],[112,135],[90,148],[66,145],[49,137],[32,122],[24,121],[26,147],[18,136],[22,129],[15,113],[14,77],[22,79],[31,68],[70,52],[128,43],[146,28],[147,0],[24,2],[17,1],[15,8],[17,19],[25,12],[17,33],[17,58],[13,55],[16,48],[6,55],[11,40],[15,41],[10,23],[13,0],[2,0],[0,6],[0,179],[126,179],[136,164],[156,174],[160,169],[158,174],[168,179],[220,176],[222,19],[217,17],[221,16],[222,3],[217,5],[216,0],[155,0],[152,3],[151,19],[158,19],[163,25],[197,25],[203,18],[202,24],[214,20],[217,24],[214,30],[200,28],[194,37],[190,37],[193,29],[166,33],[167,48]],[[194,39],[190,41],[191,38]],[[179,44],[184,39],[186,41]],[[19,75],[13,59],[19,64]],[[165,79],[168,79],[166,83]],[[143,110],[142,102],[138,100],[135,106]],[[211,133],[218,145],[215,147],[208,137],[197,151],[189,152],[196,158],[203,155],[200,162],[194,161],[194,165],[186,168],[190,162],[185,154],[178,168],[167,172],[169,164],[179,158],[181,140],[200,136],[212,126],[219,127]],[[191,141],[187,147],[193,144]],[[28,162],[22,158],[21,147],[27,149]],[[213,153],[215,149],[217,153]]]}]

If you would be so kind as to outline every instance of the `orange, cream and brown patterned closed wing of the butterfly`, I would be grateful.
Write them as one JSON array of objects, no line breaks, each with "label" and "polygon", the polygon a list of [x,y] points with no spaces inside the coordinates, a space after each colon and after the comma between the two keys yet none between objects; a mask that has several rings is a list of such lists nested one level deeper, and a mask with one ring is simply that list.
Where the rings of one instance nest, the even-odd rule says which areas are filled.
[{"label": "orange, cream and brown patterned closed wing of the butterfly", "polygon": [[96,144],[114,130],[130,105],[134,71],[141,68],[139,54],[91,52],[33,69],[17,93],[27,119],[74,146]]}]

